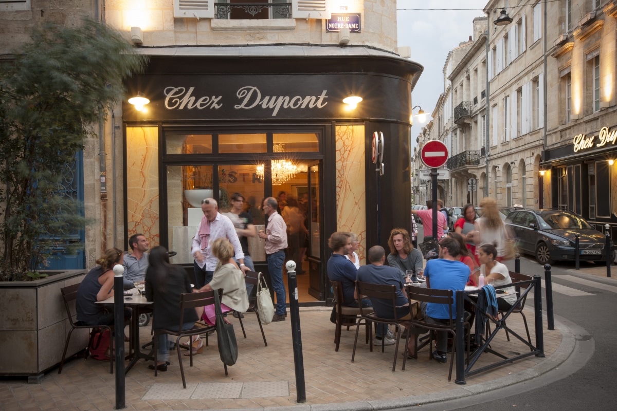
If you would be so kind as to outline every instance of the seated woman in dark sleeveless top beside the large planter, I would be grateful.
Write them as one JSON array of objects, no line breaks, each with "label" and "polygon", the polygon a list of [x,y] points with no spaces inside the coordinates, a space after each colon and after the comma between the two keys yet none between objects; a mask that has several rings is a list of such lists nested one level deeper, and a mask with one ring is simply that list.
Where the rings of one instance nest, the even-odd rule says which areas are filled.
[{"label": "seated woman in dark sleeveless top beside the large planter", "polygon": [[[80,325],[114,324],[114,310],[97,301],[114,296],[114,271],[116,264],[122,265],[123,253],[117,248],[110,248],[105,255],[96,260],[97,267],[91,269],[81,282],[75,299],[75,311]],[[122,290],[120,290],[122,292]],[[131,309],[125,307],[125,319],[131,317]]]}]

